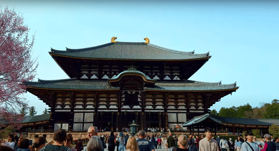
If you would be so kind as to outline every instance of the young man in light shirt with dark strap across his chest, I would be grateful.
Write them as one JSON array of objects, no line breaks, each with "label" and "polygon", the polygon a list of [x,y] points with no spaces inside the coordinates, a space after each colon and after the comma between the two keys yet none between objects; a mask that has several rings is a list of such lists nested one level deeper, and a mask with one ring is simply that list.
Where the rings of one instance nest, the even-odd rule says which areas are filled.
[{"label": "young man in light shirt with dark strap across his chest", "polygon": [[247,132],[244,136],[246,137],[247,141],[242,143],[241,151],[260,151],[258,144],[253,142],[253,133]]}]

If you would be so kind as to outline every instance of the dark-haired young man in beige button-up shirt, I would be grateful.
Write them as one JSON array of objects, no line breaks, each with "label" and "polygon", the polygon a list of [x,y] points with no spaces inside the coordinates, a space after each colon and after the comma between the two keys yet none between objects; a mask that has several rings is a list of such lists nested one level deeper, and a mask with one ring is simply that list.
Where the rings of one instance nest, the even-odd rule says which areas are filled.
[{"label": "dark-haired young man in beige button-up shirt", "polygon": [[199,141],[199,151],[218,151],[218,143],[215,139],[212,139],[212,129],[205,128],[204,129],[205,138]]}]

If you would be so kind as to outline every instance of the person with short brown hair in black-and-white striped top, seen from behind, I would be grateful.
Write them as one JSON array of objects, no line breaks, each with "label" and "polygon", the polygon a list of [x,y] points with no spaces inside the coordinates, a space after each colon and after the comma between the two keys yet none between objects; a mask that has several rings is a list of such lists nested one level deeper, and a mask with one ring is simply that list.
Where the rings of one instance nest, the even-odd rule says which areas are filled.
[{"label": "person with short brown hair in black-and-white striped top, seen from behind", "polygon": [[64,129],[58,129],[53,134],[54,143],[44,146],[39,151],[71,151],[68,146],[64,146],[64,141],[67,139],[67,133]]}]

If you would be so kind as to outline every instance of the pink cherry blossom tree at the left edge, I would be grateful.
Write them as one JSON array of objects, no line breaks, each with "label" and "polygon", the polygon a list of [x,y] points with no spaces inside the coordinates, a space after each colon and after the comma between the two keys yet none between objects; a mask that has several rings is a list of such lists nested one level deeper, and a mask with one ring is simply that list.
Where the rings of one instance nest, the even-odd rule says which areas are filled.
[{"label": "pink cherry blossom tree at the left edge", "polygon": [[[0,10],[0,127],[1,123],[15,125],[22,119],[19,110],[28,106],[23,97],[26,86],[36,76],[37,58],[32,57],[34,35],[29,40],[29,28],[22,15],[8,6]],[[14,125],[12,125],[14,124]],[[20,125],[19,125],[20,127]]]}]

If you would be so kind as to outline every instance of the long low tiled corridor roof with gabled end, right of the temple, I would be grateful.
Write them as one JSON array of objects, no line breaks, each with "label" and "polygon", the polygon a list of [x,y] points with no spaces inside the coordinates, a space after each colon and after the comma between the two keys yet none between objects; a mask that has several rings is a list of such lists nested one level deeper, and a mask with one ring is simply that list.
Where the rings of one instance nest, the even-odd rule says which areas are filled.
[{"label": "long low tiled corridor roof with gabled end, right of the temple", "polygon": [[183,126],[190,126],[193,124],[197,124],[207,118],[210,118],[211,120],[219,124],[230,123],[230,124],[264,125],[264,126],[279,124],[279,119],[246,119],[246,118],[234,118],[234,117],[220,117],[220,116],[205,114],[198,117],[194,117],[190,121],[185,122],[185,125]]}]

